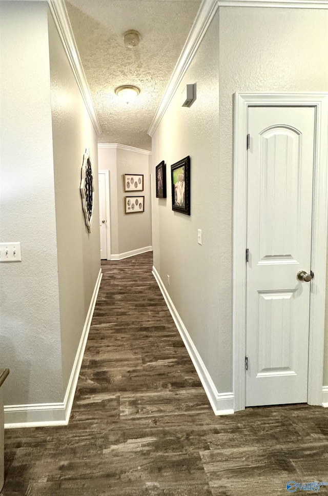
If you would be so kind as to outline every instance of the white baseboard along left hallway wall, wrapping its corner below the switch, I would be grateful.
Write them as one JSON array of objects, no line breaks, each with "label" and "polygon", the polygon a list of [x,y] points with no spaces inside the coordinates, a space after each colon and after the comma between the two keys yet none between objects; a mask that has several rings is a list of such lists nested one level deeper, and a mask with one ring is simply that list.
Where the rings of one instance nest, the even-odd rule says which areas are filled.
[{"label": "white baseboard along left hallway wall, wrapping its corner below the switch", "polygon": [[99,270],[63,403],[5,405],[5,429],[67,425],[103,273]]}]

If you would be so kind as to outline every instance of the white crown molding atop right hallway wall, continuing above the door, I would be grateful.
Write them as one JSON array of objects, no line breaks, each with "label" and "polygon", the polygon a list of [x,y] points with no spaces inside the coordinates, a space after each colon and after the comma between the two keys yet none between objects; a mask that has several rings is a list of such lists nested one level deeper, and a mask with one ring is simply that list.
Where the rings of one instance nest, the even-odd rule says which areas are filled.
[{"label": "white crown molding atop right hallway wall, continuing above the door", "polygon": [[165,114],[183,75],[185,75],[199,44],[219,7],[270,7],[289,9],[328,9],[328,0],[202,0],[185,46],[170,77],[156,110],[148,134],[153,136]]}]

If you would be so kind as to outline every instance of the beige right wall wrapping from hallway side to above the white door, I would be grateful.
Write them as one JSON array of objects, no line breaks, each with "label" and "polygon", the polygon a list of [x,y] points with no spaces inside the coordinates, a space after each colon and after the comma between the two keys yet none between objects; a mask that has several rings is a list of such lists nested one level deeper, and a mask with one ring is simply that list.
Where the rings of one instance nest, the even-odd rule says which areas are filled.
[{"label": "beige right wall wrapping from hallway side to above the white door", "polygon": [[[233,93],[328,91],[327,32],[323,10],[220,8],[153,136],[153,173],[165,160],[168,184],[153,202],[154,266],[219,393],[233,387]],[[180,106],[187,83],[197,83],[190,109]],[[170,198],[170,165],[186,155],[190,217]]]}]

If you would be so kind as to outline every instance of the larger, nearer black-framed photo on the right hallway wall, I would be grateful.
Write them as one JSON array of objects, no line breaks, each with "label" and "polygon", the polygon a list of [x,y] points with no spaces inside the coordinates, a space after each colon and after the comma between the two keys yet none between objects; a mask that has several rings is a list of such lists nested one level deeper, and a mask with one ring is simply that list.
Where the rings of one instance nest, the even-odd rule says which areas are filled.
[{"label": "larger, nearer black-framed photo on the right hallway wall", "polygon": [[190,156],[171,165],[172,210],[190,215]]}]

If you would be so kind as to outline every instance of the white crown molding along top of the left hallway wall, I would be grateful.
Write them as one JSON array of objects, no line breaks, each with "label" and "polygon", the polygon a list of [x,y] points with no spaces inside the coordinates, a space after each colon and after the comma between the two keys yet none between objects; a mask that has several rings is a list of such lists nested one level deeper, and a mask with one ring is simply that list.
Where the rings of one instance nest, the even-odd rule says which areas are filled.
[{"label": "white crown molding along top of the left hallway wall", "polygon": [[78,53],[65,2],[64,0],[48,0],[48,5],[54,18],[61,42],[64,45],[77,85],[83,97],[84,103],[86,104],[92,124],[97,135],[99,136],[102,132],[101,127],[93,105],[86,74]]}]

